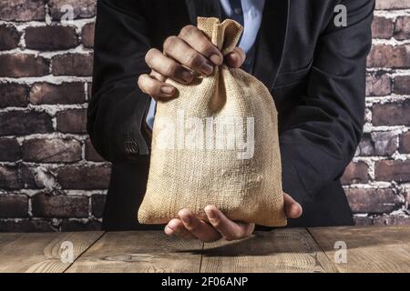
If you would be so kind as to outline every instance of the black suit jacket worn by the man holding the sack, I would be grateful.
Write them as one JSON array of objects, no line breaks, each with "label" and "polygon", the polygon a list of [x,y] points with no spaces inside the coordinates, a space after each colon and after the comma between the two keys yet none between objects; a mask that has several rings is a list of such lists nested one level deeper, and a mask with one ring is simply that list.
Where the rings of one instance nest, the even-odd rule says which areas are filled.
[{"label": "black suit jacket worn by the man holding the sack", "polygon": [[[333,22],[347,8],[347,26]],[[354,156],[364,123],[365,60],[373,0],[266,0],[253,75],[279,112],[283,190],[303,206],[290,226],[353,224],[339,177]],[[137,210],[149,170],[144,130],[149,96],[137,86],[149,73],[144,56],[162,49],[197,16],[220,17],[218,0],[99,0],[93,95],[87,129],[113,163],[106,229],[144,229]],[[160,226],[162,227],[162,226]]]}]

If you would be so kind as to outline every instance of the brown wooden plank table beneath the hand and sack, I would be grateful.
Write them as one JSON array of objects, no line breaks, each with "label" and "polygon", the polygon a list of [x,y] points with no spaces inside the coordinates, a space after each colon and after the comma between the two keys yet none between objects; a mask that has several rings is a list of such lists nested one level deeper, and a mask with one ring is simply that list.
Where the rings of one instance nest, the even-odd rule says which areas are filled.
[{"label": "brown wooden plank table beneath the hand and sack", "polygon": [[282,228],[210,244],[159,231],[2,233],[0,272],[410,272],[410,227]]}]

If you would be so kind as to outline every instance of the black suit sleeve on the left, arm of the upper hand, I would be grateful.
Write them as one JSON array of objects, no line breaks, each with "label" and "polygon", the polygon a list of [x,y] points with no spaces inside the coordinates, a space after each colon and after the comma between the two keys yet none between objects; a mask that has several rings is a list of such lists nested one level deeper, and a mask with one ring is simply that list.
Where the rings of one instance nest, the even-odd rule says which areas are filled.
[{"label": "black suit sleeve on the left, arm of the upper hand", "polygon": [[92,97],[87,131],[97,152],[110,162],[147,159],[141,129],[149,95],[137,85],[148,73],[149,25],[138,1],[97,1]]}]

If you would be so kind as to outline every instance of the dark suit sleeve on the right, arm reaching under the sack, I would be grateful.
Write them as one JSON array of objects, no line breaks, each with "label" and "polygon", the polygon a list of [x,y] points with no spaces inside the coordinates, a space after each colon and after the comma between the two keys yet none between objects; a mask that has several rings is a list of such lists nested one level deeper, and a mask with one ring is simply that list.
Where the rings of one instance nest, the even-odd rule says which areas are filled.
[{"label": "dark suit sleeve on the right, arm reaching under the sack", "polygon": [[283,191],[302,204],[343,175],[363,133],[374,1],[341,4],[347,8],[347,25],[337,27],[332,17],[324,27],[306,94],[280,135]]}]

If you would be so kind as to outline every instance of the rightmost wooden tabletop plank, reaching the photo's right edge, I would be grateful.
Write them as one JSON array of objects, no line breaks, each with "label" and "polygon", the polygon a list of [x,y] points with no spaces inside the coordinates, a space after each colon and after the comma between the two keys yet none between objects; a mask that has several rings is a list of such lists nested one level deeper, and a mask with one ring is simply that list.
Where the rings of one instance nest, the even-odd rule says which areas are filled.
[{"label": "rightmost wooden tabletop plank, reaching the photo's right edge", "polygon": [[332,262],[339,250],[334,243],[345,242],[346,263],[333,263],[340,272],[410,272],[410,226],[318,227],[309,231]]}]

